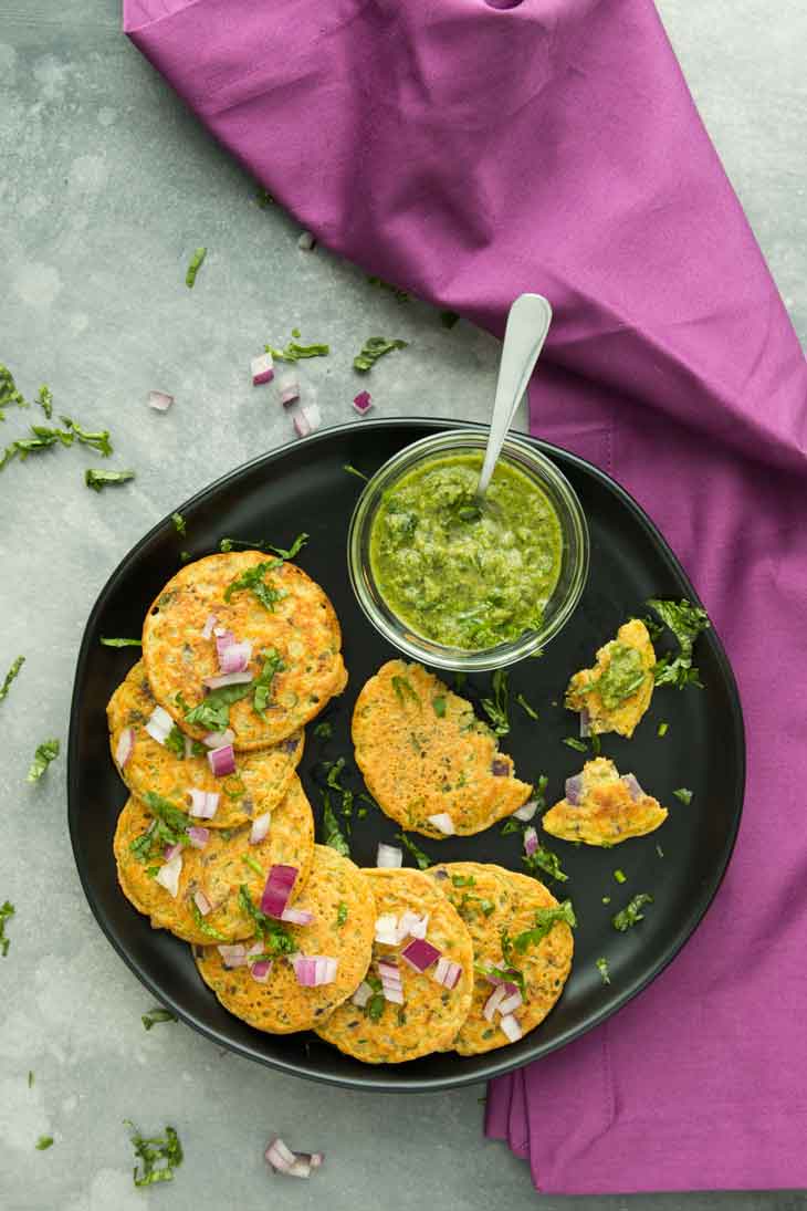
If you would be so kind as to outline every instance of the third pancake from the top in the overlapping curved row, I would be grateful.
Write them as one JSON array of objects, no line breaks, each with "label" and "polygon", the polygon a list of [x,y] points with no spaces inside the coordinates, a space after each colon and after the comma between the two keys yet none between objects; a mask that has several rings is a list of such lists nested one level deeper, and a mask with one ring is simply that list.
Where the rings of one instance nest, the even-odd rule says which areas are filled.
[{"label": "third pancake from the top in the overlapping curved row", "polygon": [[[194,820],[166,799],[154,796],[142,802],[132,796],[115,831],[117,878],[123,894],[151,918],[155,929],[168,929],[186,942],[250,937],[255,925],[241,888],[258,906],[270,868],[294,867],[298,876],[289,897],[294,900],[311,871],[313,817],[296,775],[272,811],[266,836],[252,842],[253,827],[206,830],[204,821]],[[189,834],[189,828],[201,828],[201,834]],[[203,846],[195,848],[194,839]],[[177,843],[181,844],[178,855],[167,857],[166,850],[171,853]],[[168,871],[161,874],[165,867]]]}]

